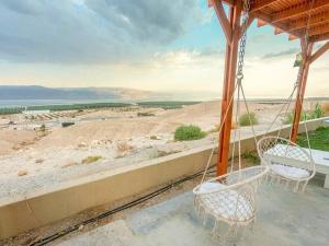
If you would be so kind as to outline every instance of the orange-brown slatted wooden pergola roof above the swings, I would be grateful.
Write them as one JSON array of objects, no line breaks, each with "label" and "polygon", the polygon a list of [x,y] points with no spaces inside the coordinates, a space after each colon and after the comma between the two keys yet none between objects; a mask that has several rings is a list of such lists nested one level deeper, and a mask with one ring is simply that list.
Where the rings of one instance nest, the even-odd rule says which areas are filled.
[{"label": "orange-brown slatted wooden pergola roof above the swings", "polygon": [[[242,0],[208,0],[208,3],[232,5],[237,1]],[[307,26],[310,42],[329,39],[329,0],[250,0],[250,16],[258,19],[257,26],[270,24],[275,28],[274,34],[287,33],[290,39],[303,38]]]}]

